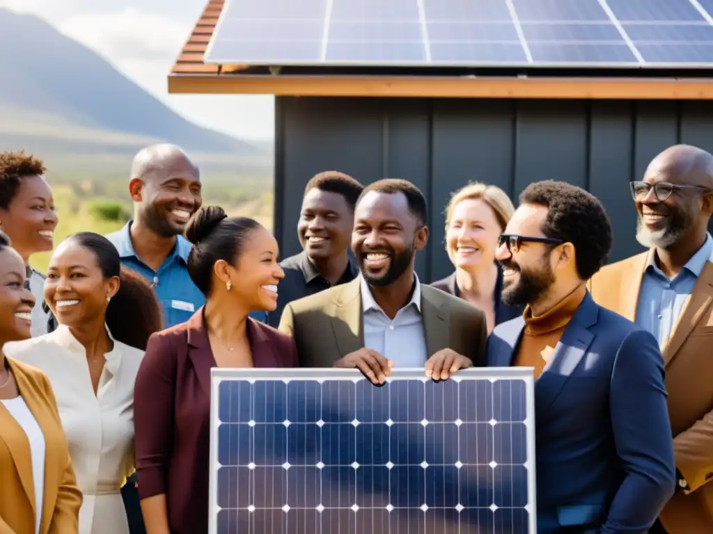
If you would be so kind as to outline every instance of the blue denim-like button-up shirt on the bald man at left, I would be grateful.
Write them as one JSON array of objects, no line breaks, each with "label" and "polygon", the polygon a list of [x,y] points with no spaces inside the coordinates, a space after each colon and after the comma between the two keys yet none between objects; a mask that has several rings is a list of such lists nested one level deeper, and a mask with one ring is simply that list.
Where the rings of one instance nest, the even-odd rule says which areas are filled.
[{"label": "blue denim-like button-up shirt on the bald man at left", "polygon": [[[176,246],[158,271],[147,266],[134,251],[131,243],[129,221],[122,229],[106,238],[116,246],[121,263],[145,276],[153,286],[163,308],[165,328],[185,323],[198,308],[205,304],[200,292],[188,275],[188,253],[193,245],[183,236],[176,237]],[[265,322],[265,312],[254,312],[250,317]]]}]

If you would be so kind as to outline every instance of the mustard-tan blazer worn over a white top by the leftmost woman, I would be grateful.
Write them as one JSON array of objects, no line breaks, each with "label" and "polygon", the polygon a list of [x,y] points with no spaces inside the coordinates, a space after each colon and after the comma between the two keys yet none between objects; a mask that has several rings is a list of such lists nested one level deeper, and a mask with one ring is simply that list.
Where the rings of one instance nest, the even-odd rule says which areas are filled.
[{"label": "mustard-tan blazer worn over a white top by the leftmost woman", "polygon": [[[41,534],[77,534],[82,494],[69,459],[67,440],[47,377],[7,358],[20,394],[45,439]],[[0,534],[34,534],[35,491],[24,431],[0,404]]]}]

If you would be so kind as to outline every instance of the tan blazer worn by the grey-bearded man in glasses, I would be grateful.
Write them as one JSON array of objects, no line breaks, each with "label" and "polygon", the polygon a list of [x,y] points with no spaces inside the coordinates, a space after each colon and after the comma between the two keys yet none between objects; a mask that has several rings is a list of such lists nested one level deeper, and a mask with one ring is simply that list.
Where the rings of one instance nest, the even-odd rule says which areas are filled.
[{"label": "tan blazer worn by the grey-bearded man in glasses", "polygon": [[[605,266],[588,283],[595,301],[635,320],[651,251]],[[670,534],[713,533],[713,263],[707,263],[662,347],[676,467],[689,484],[660,519]]]}]

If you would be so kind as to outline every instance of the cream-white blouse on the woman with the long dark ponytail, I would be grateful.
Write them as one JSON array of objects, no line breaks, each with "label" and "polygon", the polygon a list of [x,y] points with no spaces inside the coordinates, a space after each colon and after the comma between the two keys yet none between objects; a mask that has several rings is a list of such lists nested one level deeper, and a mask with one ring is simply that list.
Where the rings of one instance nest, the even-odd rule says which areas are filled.
[{"label": "cream-white blouse on the woman with the long dark ponytail", "polygon": [[133,389],[143,351],[115,340],[96,395],[86,350],[66,326],[8,343],[4,351],[38,367],[52,384],[84,497],[79,534],[128,534],[120,486],[134,465]]}]

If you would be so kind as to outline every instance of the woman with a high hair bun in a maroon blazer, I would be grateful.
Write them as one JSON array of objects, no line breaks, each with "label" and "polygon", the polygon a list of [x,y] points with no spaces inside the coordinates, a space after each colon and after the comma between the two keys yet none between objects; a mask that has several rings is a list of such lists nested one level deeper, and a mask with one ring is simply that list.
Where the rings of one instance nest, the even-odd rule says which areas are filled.
[{"label": "woman with a high hair bun in a maroon blazer", "polygon": [[136,471],[148,534],[208,529],[211,367],[297,367],[291,337],[248,317],[277,306],[277,241],[207,206],[188,221],[193,318],[150,337],[136,377]]}]

